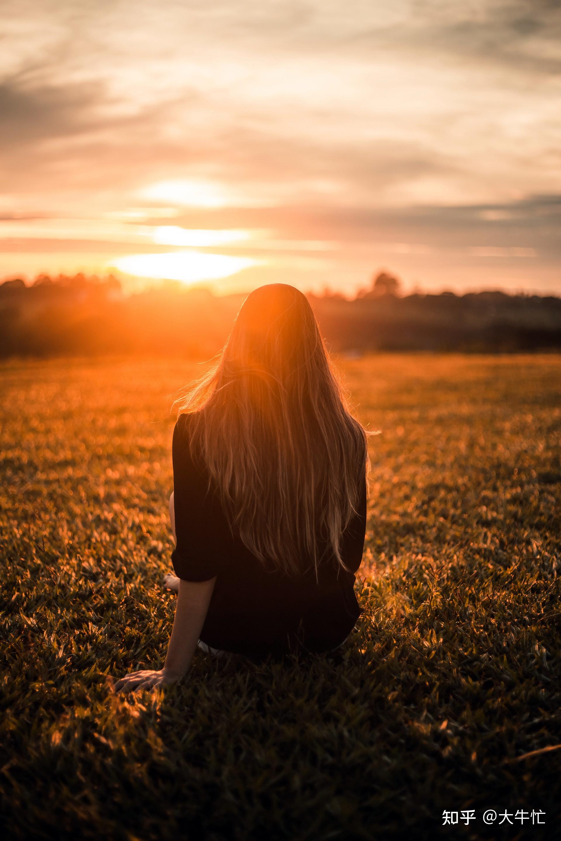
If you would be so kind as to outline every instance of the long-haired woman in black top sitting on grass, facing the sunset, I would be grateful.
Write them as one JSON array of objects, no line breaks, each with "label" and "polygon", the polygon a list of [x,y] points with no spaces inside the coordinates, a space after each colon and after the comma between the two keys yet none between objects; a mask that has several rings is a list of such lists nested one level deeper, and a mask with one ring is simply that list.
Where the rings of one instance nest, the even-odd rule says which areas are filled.
[{"label": "long-haired woman in black top sitting on grass, facing the sunset", "polygon": [[163,669],[127,674],[116,690],[180,680],[197,645],[253,658],[329,652],[360,614],[367,433],[304,295],[283,283],[248,295],[180,411],[172,637]]}]

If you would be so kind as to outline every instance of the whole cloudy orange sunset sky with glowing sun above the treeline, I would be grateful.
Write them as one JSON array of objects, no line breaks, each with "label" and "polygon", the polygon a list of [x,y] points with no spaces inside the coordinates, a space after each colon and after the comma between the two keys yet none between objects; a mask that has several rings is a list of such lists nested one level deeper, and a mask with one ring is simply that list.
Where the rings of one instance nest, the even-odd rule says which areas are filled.
[{"label": "whole cloudy orange sunset sky with glowing sun above the treeline", "polygon": [[556,0],[4,0],[0,32],[0,278],[561,294]]}]

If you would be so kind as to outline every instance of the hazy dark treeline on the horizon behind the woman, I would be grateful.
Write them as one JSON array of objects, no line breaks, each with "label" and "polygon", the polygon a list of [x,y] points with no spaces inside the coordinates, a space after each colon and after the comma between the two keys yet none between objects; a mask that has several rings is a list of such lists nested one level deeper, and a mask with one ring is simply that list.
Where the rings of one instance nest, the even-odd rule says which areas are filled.
[{"label": "hazy dark treeline on the horizon behind the woman", "polygon": [[[125,296],[119,281],[41,275],[0,284],[0,357],[149,353],[208,358],[245,295],[167,283]],[[379,274],[354,300],[308,296],[332,351],[561,350],[561,298],[480,292],[400,294]]]}]

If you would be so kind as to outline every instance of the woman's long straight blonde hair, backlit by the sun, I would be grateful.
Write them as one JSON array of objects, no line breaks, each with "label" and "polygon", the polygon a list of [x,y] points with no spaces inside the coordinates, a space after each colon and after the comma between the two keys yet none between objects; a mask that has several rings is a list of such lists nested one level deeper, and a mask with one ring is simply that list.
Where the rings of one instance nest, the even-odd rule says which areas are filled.
[{"label": "woman's long straight blonde hair, backlit by the sun", "polygon": [[352,417],[310,303],[284,283],[244,300],[213,366],[176,400],[241,541],[268,566],[317,574],[318,544],[343,569],[341,534],[368,475],[367,433]]}]

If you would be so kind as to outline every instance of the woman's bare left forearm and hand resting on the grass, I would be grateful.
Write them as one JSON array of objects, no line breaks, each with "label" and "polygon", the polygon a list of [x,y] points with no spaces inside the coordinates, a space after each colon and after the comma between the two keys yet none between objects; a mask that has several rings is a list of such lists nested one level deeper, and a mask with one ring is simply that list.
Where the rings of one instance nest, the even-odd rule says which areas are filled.
[{"label": "woman's bare left forearm and hand resting on the grass", "polygon": [[115,684],[116,692],[151,689],[154,686],[173,683],[187,674],[209,610],[215,581],[216,578],[208,581],[180,579],[172,636],[167,647],[164,668],[160,671],[146,669],[125,674],[124,678]]}]

